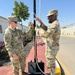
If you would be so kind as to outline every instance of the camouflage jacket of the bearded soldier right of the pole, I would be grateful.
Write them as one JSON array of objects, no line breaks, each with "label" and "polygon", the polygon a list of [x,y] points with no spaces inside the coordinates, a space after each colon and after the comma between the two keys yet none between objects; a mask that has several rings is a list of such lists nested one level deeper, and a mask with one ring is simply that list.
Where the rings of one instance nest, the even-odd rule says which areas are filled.
[{"label": "camouflage jacket of the bearded soldier right of the pole", "polygon": [[43,37],[46,38],[47,45],[50,48],[56,45],[59,46],[59,39],[60,39],[60,34],[61,34],[59,22],[55,20],[48,27],[42,24],[41,28],[44,30]]}]

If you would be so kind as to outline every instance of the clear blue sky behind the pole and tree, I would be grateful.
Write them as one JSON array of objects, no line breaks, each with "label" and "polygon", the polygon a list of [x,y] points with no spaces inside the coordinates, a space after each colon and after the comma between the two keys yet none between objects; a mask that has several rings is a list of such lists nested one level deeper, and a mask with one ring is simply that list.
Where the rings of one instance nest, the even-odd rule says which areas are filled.
[{"label": "clear blue sky behind the pole and tree", "polygon": [[[8,18],[13,13],[15,0],[0,0],[0,16]],[[22,1],[29,7],[30,17],[23,21],[24,25],[33,22],[33,1],[34,0],[16,0]],[[75,23],[75,0],[36,0],[36,17],[40,18],[45,25],[49,25],[47,20],[48,11],[58,10],[58,20],[60,26],[66,26]],[[36,22],[37,23],[37,22]]]}]

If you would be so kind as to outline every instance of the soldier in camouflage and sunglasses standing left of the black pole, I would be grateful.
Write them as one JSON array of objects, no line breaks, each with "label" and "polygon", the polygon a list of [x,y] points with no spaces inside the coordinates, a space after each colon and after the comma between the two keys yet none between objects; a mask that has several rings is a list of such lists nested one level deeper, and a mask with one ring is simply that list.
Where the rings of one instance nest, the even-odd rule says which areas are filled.
[{"label": "soldier in camouflage and sunglasses standing left of the black pole", "polygon": [[[24,72],[26,54],[24,53],[24,47],[21,38],[23,32],[16,28],[16,16],[8,17],[8,22],[9,26],[4,32],[4,43],[12,62],[14,75],[19,75],[19,70],[22,72],[22,75],[26,75]],[[14,58],[14,56],[16,56],[16,58]]]}]

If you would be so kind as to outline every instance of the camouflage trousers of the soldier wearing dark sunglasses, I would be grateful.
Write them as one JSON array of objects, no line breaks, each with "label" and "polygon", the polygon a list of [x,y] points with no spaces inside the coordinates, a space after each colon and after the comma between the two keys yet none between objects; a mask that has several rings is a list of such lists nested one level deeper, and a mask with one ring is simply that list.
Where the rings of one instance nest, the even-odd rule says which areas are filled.
[{"label": "camouflage trousers of the soldier wearing dark sunglasses", "polygon": [[13,52],[8,51],[10,56],[10,61],[12,63],[12,68],[14,71],[14,75],[19,75],[19,71],[24,72],[25,69],[25,62],[26,62],[26,55],[25,53],[20,49],[16,51],[16,54],[18,56],[18,59],[14,59]]}]

